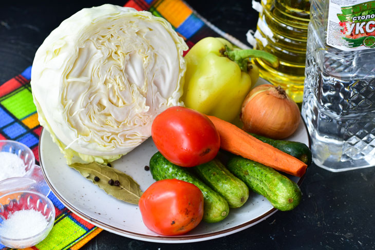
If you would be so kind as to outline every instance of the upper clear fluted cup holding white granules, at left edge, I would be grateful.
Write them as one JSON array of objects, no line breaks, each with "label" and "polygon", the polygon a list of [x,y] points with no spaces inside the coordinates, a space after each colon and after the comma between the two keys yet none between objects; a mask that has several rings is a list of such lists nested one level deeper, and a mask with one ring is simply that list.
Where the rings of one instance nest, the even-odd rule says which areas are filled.
[{"label": "upper clear fluted cup holding white granules, at left edge", "polygon": [[11,141],[0,140],[0,181],[12,177],[24,177],[32,172],[35,157],[26,145]]}]

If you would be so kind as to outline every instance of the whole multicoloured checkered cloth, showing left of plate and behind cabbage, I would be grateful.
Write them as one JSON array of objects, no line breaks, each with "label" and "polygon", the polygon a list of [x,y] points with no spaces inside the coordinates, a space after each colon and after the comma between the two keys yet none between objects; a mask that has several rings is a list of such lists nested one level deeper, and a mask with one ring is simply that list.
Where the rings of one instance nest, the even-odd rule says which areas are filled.
[{"label": "whole multicoloured checkered cloth, showing left of plate and behind cabbage", "polygon": [[[207,36],[222,36],[238,47],[247,47],[233,36],[205,21],[181,0],[130,0],[125,6],[137,10],[148,10],[155,16],[164,17],[190,48]],[[37,121],[30,77],[31,66],[20,75],[0,85],[0,140],[24,143],[34,152],[38,164],[38,143],[42,127]],[[55,224],[45,240],[26,248],[27,250],[77,250],[102,231],[101,228],[74,215],[52,192],[48,197],[55,206]],[[0,250],[6,249],[10,248],[0,244]]]}]

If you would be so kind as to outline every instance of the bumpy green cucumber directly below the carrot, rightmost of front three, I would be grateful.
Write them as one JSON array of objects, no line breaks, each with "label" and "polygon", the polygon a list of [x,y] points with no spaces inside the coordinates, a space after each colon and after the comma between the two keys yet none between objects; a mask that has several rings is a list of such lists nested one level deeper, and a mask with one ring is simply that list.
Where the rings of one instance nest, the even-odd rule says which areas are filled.
[{"label": "bumpy green cucumber directly below the carrot, rightmost of front three", "polygon": [[301,202],[302,193],[298,185],[270,167],[239,156],[229,160],[227,167],[279,210],[291,210]]}]

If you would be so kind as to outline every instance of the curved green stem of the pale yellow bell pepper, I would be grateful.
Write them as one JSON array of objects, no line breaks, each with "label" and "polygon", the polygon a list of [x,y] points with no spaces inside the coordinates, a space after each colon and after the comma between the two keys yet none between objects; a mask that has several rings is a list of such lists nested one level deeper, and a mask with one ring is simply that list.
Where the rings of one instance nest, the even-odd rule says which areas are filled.
[{"label": "curved green stem of the pale yellow bell pepper", "polygon": [[242,71],[247,72],[249,57],[257,57],[264,59],[272,64],[273,67],[278,67],[279,62],[276,56],[263,50],[257,49],[230,49],[226,46],[224,55],[228,56],[230,60],[236,62]]}]

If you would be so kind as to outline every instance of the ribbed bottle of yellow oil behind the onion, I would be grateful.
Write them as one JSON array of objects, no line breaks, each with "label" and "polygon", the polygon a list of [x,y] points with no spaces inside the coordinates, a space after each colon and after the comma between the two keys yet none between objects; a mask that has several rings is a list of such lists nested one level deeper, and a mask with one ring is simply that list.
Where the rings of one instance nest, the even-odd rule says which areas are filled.
[{"label": "ribbed bottle of yellow oil behind the onion", "polygon": [[254,34],[247,33],[253,48],[276,55],[277,68],[262,59],[254,59],[261,78],[282,86],[297,103],[302,103],[305,80],[307,27],[310,21],[309,0],[253,0],[259,12]]}]

